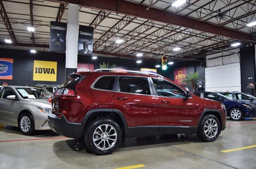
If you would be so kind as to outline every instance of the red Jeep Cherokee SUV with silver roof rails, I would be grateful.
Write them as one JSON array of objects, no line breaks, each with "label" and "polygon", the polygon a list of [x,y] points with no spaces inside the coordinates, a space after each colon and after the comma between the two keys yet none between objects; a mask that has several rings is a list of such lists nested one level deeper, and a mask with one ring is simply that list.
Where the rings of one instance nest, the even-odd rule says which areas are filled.
[{"label": "red Jeep Cherokee SUV with silver roof rails", "polygon": [[69,79],[52,97],[48,123],[60,135],[84,137],[96,155],[112,153],[124,137],[196,133],[202,141],[214,141],[225,129],[222,103],[157,74],[106,69]]}]

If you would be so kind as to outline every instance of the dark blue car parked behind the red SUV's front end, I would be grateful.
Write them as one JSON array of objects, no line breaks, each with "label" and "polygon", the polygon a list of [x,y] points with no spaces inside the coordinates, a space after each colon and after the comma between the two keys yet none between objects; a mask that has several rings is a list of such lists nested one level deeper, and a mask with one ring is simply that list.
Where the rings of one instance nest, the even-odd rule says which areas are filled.
[{"label": "dark blue car parked behind the red SUV's front end", "polygon": [[227,111],[227,116],[232,120],[241,120],[243,117],[253,117],[256,112],[255,105],[232,100],[225,95],[215,92],[201,91],[194,92],[195,95],[222,102]]}]

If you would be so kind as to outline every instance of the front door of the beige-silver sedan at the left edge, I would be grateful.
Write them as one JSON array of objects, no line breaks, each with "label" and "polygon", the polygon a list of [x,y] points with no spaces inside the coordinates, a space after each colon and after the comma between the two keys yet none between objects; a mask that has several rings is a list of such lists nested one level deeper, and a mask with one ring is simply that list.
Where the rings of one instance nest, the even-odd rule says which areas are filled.
[{"label": "front door of the beige-silver sedan at the left edge", "polygon": [[0,121],[5,123],[16,123],[16,113],[18,107],[18,100],[10,100],[6,97],[8,95],[16,95],[15,91],[10,87],[3,87],[0,93]]}]

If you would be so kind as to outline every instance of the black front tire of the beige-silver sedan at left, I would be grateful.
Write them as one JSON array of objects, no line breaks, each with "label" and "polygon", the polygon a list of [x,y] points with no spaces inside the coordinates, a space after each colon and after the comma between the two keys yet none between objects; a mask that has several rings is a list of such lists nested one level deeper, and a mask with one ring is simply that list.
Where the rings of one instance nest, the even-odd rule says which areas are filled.
[{"label": "black front tire of the beige-silver sedan at left", "polygon": [[[28,131],[26,131],[26,130],[24,131],[24,128],[23,128],[24,125],[21,126],[21,124],[20,124],[23,117],[24,117],[24,119],[26,119],[26,117],[29,119],[30,127],[29,127]],[[22,132],[22,134],[32,135],[32,133],[34,133],[34,131],[35,131],[34,118],[32,117],[32,115],[30,113],[22,113],[22,115],[18,119],[18,126],[19,126],[19,129]]]}]

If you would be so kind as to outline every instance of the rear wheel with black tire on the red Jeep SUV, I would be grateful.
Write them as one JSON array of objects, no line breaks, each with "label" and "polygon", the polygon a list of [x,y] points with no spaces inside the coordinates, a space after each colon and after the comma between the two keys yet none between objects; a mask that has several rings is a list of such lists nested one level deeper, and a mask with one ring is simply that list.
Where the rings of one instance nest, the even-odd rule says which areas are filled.
[{"label": "rear wheel with black tire on the red Jeep SUV", "polygon": [[[106,125],[111,125],[112,127],[114,127],[114,129],[110,130],[111,126],[109,126],[109,127],[107,127],[107,131],[104,131],[104,129],[106,129],[106,127],[104,127],[105,124]],[[104,131],[103,132],[104,136],[94,134],[94,131],[98,127],[100,127],[101,125],[103,127],[101,129],[102,129],[102,131]],[[106,133],[109,134],[108,132],[110,133],[110,135],[113,135],[114,133],[116,133],[116,136],[105,135]],[[99,132],[99,133],[102,134],[102,132]],[[93,141],[94,137],[96,137],[95,139],[99,139],[98,142],[96,142],[95,144],[100,143],[100,141],[104,141],[104,142],[100,143],[99,147],[97,147],[94,144],[94,141]],[[96,155],[108,155],[108,154],[113,153],[119,147],[119,145],[121,145],[121,143],[122,143],[122,131],[121,131],[120,126],[115,121],[113,121],[112,119],[99,118],[99,119],[96,119],[96,120],[92,121],[86,127],[84,138],[85,138],[85,142],[86,142],[86,145],[87,145],[88,149],[90,149],[90,151],[92,151],[94,154],[96,154]],[[108,139],[108,140],[105,141],[106,139]],[[109,139],[116,139],[116,142],[114,143],[114,141],[109,140]],[[105,143],[105,146],[106,146],[105,148],[110,147],[110,146],[112,146],[112,147],[110,147],[108,149],[104,149],[104,147],[103,147],[104,143]],[[108,143],[108,146],[107,146],[107,143]],[[100,147],[100,146],[102,146],[102,147]]]}]

